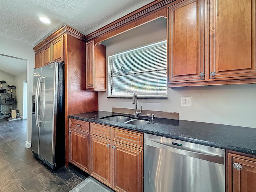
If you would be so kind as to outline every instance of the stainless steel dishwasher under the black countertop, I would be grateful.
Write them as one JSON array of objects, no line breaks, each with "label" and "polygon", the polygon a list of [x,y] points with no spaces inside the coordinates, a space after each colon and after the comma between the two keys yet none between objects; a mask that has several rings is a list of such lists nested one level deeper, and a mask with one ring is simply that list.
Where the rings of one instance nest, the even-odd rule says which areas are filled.
[{"label": "stainless steel dishwasher under the black countertop", "polygon": [[144,134],[144,192],[225,192],[225,150]]}]

